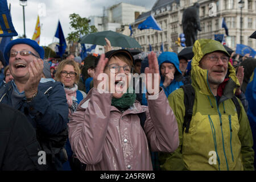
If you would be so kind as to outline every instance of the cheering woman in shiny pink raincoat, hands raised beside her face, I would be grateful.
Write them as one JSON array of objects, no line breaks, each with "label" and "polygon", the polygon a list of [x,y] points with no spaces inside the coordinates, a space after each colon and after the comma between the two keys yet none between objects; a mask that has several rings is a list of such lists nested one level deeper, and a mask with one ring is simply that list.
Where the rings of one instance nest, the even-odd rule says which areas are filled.
[{"label": "cheering woman in shiny pink raincoat, hands raised beside her face", "polygon": [[[151,93],[146,94],[148,106],[139,104],[134,92],[126,92],[132,82],[132,64],[133,56],[125,49],[102,54],[94,87],[68,123],[72,151],[88,171],[152,170],[150,150],[173,152],[179,146],[174,112],[159,87],[155,53],[148,56],[145,69],[146,77],[152,75],[146,84]],[[146,115],[144,129],[139,113]]]}]

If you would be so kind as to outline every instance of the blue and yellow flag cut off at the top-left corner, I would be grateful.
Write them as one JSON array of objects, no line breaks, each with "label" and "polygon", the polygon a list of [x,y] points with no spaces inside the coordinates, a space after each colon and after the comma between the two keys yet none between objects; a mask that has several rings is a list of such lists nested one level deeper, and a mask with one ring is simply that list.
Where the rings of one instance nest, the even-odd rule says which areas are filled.
[{"label": "blue and yellow flag cut off at the top-left corner", "polygon": [[0,36],[17,36],[13,22],[11,22],[10,11],[7,0],[0,1]]}]

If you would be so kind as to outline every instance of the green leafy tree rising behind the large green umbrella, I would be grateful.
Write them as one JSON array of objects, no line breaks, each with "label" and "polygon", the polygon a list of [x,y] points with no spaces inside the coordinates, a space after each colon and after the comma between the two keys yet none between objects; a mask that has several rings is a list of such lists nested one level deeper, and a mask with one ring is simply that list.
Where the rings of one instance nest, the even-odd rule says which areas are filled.
[{"label": "green leafy tree rising behind the large green umbrella", "polygon": [[68,40],[78,42],[80,35],[84,36],[93,32],[97,32],[97,28],[94,25],[89,26],[90,20],[87,18],[81,18],[79,14],[70,14],[69,19],[69,24],[75,31],[72,31],[70,34],[68,34]]}]

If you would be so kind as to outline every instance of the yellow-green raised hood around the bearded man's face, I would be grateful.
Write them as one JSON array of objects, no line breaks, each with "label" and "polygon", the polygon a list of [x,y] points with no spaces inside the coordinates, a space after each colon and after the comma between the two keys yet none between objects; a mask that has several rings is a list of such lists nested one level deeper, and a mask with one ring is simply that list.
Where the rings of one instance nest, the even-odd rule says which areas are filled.
[{"label": "yellow-green raised hood around the bearded man's face", "polygon": [[[202,69],[199,67],[199,61],[203,58],[204,55],[215,51],[222,51],[227,56],[229,56],[229,53],[226,51],[224,46],[222,46],[222,44],[216,40],[198,39],[193,46],[194,56],[191,62],[192,85],[195,86],[195,88],[198,88],[201,93],[206,95],[212,94],[208,86],[208,71],[207,69]],[[228,63],[228,73],[226,77],[229,78],[229,81],[225,86],[224,95],[228,98],[232,98],[234,96],[234,92],[236,92],[236,89],[240,84],[236,77],[236,70],[230,63]]]}]

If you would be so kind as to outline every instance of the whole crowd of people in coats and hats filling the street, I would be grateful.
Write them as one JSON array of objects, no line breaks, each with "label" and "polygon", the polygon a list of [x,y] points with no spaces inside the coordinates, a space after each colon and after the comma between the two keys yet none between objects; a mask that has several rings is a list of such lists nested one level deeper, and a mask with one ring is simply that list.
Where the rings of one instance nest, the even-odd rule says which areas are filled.
[{"label": "whole crowd of people in coats and hats filling the street", "polygon": [[0,171],[255,170],[256,59],[211,39],[196,40],[192,60],[135,59],[105,40],[84,60],[44,59],[31,39],[7,44]]}]

